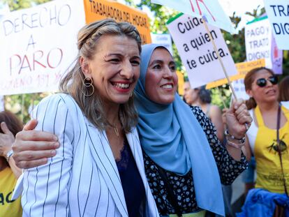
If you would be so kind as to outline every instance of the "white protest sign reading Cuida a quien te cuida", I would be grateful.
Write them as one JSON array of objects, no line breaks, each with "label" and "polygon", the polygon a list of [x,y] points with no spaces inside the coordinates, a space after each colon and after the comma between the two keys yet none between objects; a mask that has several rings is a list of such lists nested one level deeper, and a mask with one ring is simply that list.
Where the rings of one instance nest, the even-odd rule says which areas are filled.
[{"label": "white protest sign reading Cuida a quien te cuida", "polygon": [[[200,87],[225,77],[209,33],[197,17],[179,14],[168,21],[168,29],[186,67],[191,87]],[[220,29],[209,27],[218,52],[229,75],[237,74],[228,47]]]}]

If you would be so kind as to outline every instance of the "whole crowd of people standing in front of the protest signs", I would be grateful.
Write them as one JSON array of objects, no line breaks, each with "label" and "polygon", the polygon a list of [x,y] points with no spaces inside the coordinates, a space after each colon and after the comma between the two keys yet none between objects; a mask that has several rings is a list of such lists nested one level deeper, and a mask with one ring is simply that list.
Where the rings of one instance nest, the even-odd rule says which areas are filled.
[{"label": "whole crowd of people standing in front of the protest signs", "polygon": [[0,177],[11,183],[0,181],[11,195],[0,216],[9,206],[15,216],[232,216],[225,186],[251,156],[257,179],[240,215],[261,194],[272,198],[272,216],[286,213],[288,78],[279,94],[272,70],[251,70],[251,98],[222,113],[204,87],[186,82],[182,99],[170,52],[141,45],[131,24],[87,24],[77,48],[60,93],[41,100],[24,130],[0,115]]}]

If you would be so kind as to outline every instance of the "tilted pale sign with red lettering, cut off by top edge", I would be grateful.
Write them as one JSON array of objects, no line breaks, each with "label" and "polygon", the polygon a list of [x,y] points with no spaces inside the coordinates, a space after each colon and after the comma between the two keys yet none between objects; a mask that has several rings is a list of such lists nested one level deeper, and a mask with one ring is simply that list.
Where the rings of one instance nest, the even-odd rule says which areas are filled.
[{"label": "tilted pale sign with red lettering, cut off by top edge", "polygon": [[193,17],[205,17],[208,24],[235,33],[230,18],[224,13],[218,0],[151,0],[151,2],[168,6]]}]

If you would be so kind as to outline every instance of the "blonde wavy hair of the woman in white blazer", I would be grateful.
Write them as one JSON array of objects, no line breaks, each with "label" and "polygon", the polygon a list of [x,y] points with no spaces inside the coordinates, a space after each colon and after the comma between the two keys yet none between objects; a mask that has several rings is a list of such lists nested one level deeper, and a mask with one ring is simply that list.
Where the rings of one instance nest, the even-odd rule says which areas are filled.
[{"label": "blonde wavy hair of the woman in white blazer", "polygon": [[[141,38],[138,30],[128,22],[116,22],[112,19],[98,20],[82,27],[77,35],[78,56],[73,68],[61,79],[59,89],[63,93],[70,94],[85,117],[91,121],[96,128],[105,130],[112,125],[103,110],[103,102],[95,89],[92,96],[86,97],[87,88],[83,85],[84,74],[80,66],[80,57],[93,59],[98,46],[98,40],[105,36],[126,36],[138,43],[141,52]],[[119,120],[125,133],[131,132],[131,128],[138,124],[138,113],[133,104],[133,97],[119,107]]]}]

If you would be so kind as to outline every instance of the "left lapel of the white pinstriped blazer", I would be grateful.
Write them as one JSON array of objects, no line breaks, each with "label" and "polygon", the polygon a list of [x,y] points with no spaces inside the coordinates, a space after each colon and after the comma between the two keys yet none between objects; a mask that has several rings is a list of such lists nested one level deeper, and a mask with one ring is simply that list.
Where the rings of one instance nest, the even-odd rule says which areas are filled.
[{"label": "left lapel of the white pinstriped blazer", "polygon": [[90,140],[89,147],[91,155],[101,171],[103,179],[105,179],[105,183],[110,190],[112,198],[117,209],[119,209],[121,216],[128,216],[124,190],[121,186],[117,164],[115,163],[105,131],[98,130],[90,123],[87,124],[87,129]]}]

